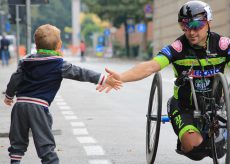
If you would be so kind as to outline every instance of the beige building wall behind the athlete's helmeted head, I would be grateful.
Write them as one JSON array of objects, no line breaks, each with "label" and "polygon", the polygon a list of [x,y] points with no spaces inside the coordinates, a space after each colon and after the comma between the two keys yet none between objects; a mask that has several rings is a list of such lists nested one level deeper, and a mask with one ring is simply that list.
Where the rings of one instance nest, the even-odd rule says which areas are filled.
[{"label": "beige building wall behind the athlete's helmeted head", "polygon": [[[153,0],[154,54],[171,44],[182,33],[177,16],[181,6],[188,0]],[[203,0],[213,11],[211,31],[230,37],[230,0]]]}]

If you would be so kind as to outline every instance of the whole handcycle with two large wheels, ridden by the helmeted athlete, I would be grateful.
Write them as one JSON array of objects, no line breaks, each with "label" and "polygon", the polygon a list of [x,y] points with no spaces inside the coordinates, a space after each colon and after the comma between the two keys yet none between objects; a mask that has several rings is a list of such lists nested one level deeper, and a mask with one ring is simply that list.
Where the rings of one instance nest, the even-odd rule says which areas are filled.
[{"label": "whole handcycle with two large wheels, ridden by the helmeted athlete", "polygon": [[[199,109],[192,77],[186,72],[183,77],[189,80],[195,104],[194,118],[197,122],[205,121],[206,130],[211,141],[211,152],[214,164],[230,164],[230,95],[226,77],[222,73],[214,75],[212,91],[209,96],[203,96],[203,107]],[[146,124],[146,160],[153,164],[157,155],[161,123],[169,122],[167,115],[162,115],[162,78],[158,72],[154,75],[149,96]],[[224,136],[224,156],[218,156],[216,140],[220,132]]]}]

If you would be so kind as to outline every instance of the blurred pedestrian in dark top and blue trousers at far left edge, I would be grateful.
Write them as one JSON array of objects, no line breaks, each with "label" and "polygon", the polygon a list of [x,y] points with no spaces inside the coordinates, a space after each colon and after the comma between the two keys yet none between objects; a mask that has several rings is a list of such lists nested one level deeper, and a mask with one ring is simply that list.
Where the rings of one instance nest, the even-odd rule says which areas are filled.
[{"label": "blurred pedestrian in dark top and blue trousers at far left edge", "polygon": [[9,52],[10,41],[6,38],[6,34],[3,33],[1,44],[0,44],[0,55],[2,59],[2,66],[9,65],[10,52]]}]

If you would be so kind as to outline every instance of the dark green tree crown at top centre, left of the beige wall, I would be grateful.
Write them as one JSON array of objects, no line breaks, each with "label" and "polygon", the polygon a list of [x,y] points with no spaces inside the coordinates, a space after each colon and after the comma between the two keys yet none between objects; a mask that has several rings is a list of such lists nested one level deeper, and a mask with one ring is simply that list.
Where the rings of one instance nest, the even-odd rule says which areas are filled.
[{"label": "dark green tree crown at top centre, left of the beige wall", "polygon": [[136,23],[144,19],[144,6],[150,0],[82,0],[88,12],[96,13],[119,27],[127,18]]}]

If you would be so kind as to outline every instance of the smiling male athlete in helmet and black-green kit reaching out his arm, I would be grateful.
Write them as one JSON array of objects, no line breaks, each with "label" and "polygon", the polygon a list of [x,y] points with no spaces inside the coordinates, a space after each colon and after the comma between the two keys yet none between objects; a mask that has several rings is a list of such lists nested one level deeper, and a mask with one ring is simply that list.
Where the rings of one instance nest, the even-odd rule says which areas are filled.
[{"label": "smiling male athlete in helmet and black-green kit reaching out his arm", "polygon": [[[165,46],[153,60],[141,62],[130,70],[118,74],[107,69],[115,79],[131,82],[144,79],[172,64],[175,81],[174,95],[168,101],[168,115],[178,136],[177,152],[192,160],[201,160],[211,155],[210,141],[194,123],[195,109],[189,82],[179,80],[184,72],[192,68],[191,75],[196,95],[210,93],[214,74],[224,73],[230,61],[230,40],[210,31],[212,11],[207,3],[189,1],[178,13],[178,23],[184,34],[172,44]],[[107,92],[110,87],[97,88]],[[198,102],[199,103],[199,102]],[[222,140],[221,140],[222,143]],[[218,149],[218,158],[225,152]]]}]

